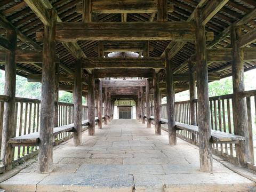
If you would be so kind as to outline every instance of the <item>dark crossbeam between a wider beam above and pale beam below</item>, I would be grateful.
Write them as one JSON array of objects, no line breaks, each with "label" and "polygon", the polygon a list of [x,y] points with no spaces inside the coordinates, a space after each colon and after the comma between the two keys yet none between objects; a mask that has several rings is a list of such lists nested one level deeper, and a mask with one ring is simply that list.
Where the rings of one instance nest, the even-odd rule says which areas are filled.
[{"label": "dark crossbeam between a wider beam above and pale beam below", "polygon": [[153,69],[94,69],[95,78],[105,77],[153,77]]}]

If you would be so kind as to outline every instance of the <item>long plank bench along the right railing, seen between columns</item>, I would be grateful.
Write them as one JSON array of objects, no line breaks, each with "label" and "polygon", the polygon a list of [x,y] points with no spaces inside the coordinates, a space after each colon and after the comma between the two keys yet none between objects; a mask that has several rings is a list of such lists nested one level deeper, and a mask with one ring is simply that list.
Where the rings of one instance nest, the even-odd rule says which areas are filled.
[{"label": "long plank bench along the right railing, seen between columns", "polygon": [[[146,116],[145,116],[146,117]],[[154,116],[150,116],[150,120],[154,120]],[[168,124],[167,119],[161,118],[161,124]],[[194,134],[198,134],[198,126],[188,125],[185,123],[176,122],[176,130],[185,130]],[[243,136],[225,133],[221,131],[211,130],[212,135],[212,143],[239,143],[240,141],[244,141],[245,138]]]}]

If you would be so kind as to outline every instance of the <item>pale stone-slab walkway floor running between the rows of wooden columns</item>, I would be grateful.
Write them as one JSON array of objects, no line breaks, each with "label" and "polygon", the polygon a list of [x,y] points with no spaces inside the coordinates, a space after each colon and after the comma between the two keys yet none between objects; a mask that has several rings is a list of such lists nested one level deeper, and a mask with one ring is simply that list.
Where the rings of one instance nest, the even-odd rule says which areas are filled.
[{"label": "pale stone-slab walkway floor running between the rows of wooden columns", "polygon": [[255,182],[213,161],[199,170],[198,148],[135,119],[113,120],[95,136],[83,133],[54,148],[53,172],[38,174],[37,163],[0,183],[6,191],[256,191]]}]

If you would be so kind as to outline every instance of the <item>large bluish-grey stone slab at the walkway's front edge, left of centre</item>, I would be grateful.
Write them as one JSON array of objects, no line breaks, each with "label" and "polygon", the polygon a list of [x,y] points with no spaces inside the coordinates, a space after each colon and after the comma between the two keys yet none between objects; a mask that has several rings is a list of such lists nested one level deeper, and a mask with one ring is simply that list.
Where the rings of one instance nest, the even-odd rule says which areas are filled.
[{"label": "large bluish-grey stone slab at the walkway's front edge, left of centre", "polygon": [[128,174],[69,173],[49,175],[37,184],[36,191],[133,191],[133,187],[133,176]]}]

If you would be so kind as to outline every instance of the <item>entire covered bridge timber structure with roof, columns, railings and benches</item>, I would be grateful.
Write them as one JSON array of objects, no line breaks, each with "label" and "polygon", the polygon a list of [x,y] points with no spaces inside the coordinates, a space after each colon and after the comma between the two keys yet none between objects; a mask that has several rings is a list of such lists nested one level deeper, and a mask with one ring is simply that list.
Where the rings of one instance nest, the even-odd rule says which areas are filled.
[{"label": "entire covered bridge timber structure with roof, columns, railings and benches", "polygon": [[[3,170],[12,169],[14,147],[39,145],[38,172],[52,172],[54,135],[72,131],[74,146],[81,145],[82,125],[94,135],[95,122],[101,129],[113,119],[116,101],[134,101],[137,119],[147,127],[154,122],[156,135],[167,124],[171,146],[177,134],[198,143],[201,171],[212,171],[213,150],[255,170],[250,102],[256,92],[244,91],[244,71],[256,63],[255,1],[0,4]],[[15,98],[16,75],[42,82],[41,101]],[[208,82],[227,76],[233,76],[234,93],[209,100]],[[190,100],[174,104],[174,94],[187,89]],[[73,92],[74,105],[60,108],[58,90]],[[165,96],[167,105],[161,105]],[[20,125],[23,136],[15,138],[18,102],[37,129]],[[63,121],[60,113],[66,114]]]}]

